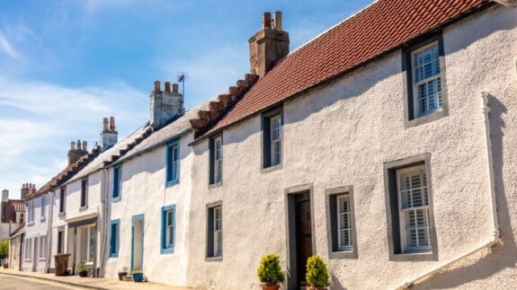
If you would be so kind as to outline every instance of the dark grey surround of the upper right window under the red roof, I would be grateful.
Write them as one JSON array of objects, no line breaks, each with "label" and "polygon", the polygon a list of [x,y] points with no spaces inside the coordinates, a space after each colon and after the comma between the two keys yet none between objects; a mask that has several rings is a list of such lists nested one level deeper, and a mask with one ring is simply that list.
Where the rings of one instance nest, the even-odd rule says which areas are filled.
[{"label": "dark grey surround of the upper right window under the red roof", "polygon": [[[440,78],[441,78],[441,108],[432,113],[418,117],[414,112],[414,73],[413,73],[413,52],[425,46],[437,42],[439,61],[440,61]],[[443,36],[441,31],[431,36],[424,36],[410,42],[402,49],[402,72],[404,82],[404,125],[406,128],[419,126],[424,123],[432,122],[449,115],[449,98],[447,90],[445,51],[443,48]]]}]

